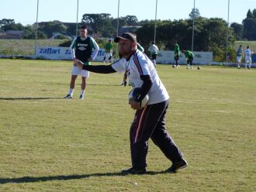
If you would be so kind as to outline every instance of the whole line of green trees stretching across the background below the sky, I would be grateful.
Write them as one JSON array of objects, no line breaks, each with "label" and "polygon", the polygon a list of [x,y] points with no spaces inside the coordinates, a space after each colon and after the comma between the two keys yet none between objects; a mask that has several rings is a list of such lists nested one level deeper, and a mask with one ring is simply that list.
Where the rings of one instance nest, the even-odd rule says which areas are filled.
[{"label": "whole line of green trees stretching across the background below the sky", "polygon": [[[96,39],[97,37],[115,37],[117,22],[119,22],[119,31],[124,26],[132,26],[130,32],[136,33],[138,42],[147,48],[154,39],[154,26],[157,24],[156,43],[161,50],[173,50],[175,40],[178,40],[182,49],[191,50],[193,19],[195,21],[193,50],[213,51],[215,60],[225,60],[223,57],[227,47],[227,21],[220,18],[206,19],[200,15],[199,9],[192,9],[189,19],[157,20],[156,22],[154,20],[138,21],[135,15],[126,15],[116,19],[108,13],[84,14],[79,26],[87,26],[88,33],[93,34]],[[34,39],[35,27],[36,24],[32,26],[16,24],[13,19],[0,20],[2,31],[22,30],[24,31],[23,39]],[[60,21],[38,23],[38,39],[50,38],[55,32],[63,34],[63,36],[59,36],[60,39],[65,38],[65,36],[75,36],[76,23]],[[242,24],[231,23],[228,27],[228,35],[230,49],[236,40],[256,40],[256,9],[252,12],[251,9],[248,10]],[[234,50],[229,50],[229,52],[232,53]]]}]

